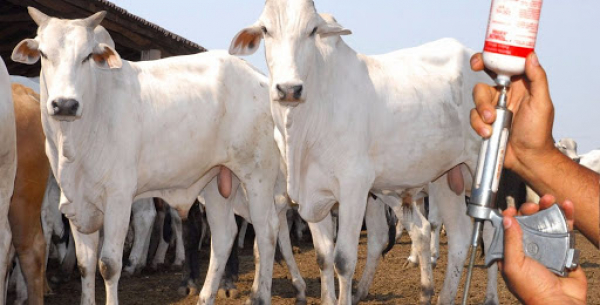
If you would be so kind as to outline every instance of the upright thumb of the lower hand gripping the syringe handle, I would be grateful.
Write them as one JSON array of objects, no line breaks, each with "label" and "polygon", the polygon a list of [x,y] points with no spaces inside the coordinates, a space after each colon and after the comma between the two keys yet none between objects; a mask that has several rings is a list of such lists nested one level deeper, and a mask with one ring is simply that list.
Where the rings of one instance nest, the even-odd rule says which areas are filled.
[{"label": "upright thumb of the lower hand gripping the syringe handle", "polygon": [[523,231],[514,217],[504,216],[504,270],[519,272],[525,262]]}]

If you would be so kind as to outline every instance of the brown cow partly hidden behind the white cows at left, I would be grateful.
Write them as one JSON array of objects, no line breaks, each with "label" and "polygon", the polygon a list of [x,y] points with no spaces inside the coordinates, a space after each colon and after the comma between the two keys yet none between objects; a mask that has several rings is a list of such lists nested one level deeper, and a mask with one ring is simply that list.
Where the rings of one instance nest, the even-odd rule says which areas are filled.
[{"label": "brown cow partly hidden behind the white cows at left", "polygon": [[39,96],[20,84],[12,85],[12,94],[17,127],[17,174],[8,219],[27,283],[28,303],[43,304],[46,243],[41,207],[49,164],[39,115]]}]

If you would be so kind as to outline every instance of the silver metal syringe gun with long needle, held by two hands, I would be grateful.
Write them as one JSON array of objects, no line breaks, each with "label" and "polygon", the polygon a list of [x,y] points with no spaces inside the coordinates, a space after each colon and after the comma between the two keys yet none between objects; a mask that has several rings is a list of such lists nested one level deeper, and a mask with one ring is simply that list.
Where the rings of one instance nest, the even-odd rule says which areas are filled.
[{"label": "silver metal syringe gun with long needle, held by two hands", "polygon": [[[484,221],[489,221],[494,228],[492,243],[485,253],[485,265],[489,267],[495,260],[504,257],[504,228],[502,214],[496,206],[496,195],[504,166],[513,113],[507,109],[510,78],[499,77],[496,83],[500,90],[496,106],[496,121],[492,124],[492,135],[481,145],[467,210],[467,214],[474,218],[474,226],[462,304],[466,304],[469,295],[477,242]],[[565,276],[567,270],[577,267],[579,251],[572,248],[574,235],[569,232],[567,220],[558,205],[554,204],[551,208],[534,215],[519,216],[516,219],[523,230],[525,255],[561,276]]]}]

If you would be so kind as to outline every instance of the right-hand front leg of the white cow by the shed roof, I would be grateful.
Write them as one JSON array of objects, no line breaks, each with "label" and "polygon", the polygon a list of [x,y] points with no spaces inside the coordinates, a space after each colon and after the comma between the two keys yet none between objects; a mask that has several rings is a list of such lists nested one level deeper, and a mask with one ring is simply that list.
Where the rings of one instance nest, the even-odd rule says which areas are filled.
[{"label": "right-hand front leg of the white cow by the shed roof", "polygon": [[123,265],[123,244],[129,229],[131,197],[108,201],[104,216],[104,244],[98,265],[104,278],[106,304],[119,304],[118,286]]}]

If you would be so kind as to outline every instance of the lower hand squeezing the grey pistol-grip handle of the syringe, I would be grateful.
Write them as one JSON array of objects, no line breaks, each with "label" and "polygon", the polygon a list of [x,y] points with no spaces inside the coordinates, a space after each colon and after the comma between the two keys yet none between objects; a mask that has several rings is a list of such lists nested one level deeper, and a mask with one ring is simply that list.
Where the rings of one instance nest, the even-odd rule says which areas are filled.
[{"label": "lower hand squeezing the grey pistol-grip handle of the syringe", "polygon": [[[539,205],[525,203],[519,215],[531,215],[549,208],[555,202],[552,195],[545,195]],[[569,230],[573,229],[574,206],[566,200],[559,204],[565,213]],[[517,211],[508,208],[504,211],[504,260],[498,263],[504,281],[523,304],[585,304],[587,280],[581,267],[570,272],[567,277],[559,277],[536,260],[525,256],[523,232],[514,216]]]}]

